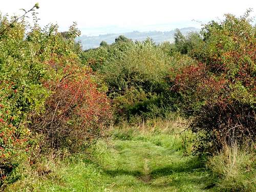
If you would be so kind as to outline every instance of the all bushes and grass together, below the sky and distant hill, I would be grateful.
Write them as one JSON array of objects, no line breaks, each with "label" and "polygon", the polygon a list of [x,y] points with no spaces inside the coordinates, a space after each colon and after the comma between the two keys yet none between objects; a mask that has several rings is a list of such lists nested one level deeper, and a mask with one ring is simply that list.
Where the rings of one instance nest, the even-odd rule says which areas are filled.
[{"label": "all bushes and grass together, below the sky and distant hill", "polygon": [[75,23],[41,28],[35,8],[0,17],[2,190],[256,189],[250,10],[82,51]]}]

